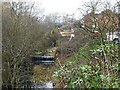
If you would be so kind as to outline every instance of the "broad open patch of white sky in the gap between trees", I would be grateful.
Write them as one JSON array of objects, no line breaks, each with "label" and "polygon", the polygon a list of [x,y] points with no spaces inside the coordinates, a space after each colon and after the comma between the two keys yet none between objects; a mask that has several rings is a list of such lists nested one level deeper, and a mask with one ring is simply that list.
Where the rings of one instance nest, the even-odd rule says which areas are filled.
[{"label": "broad open patch of white sky in the gap between trees", "polygon": [[74,13],[80,7],[82,0],[39,0],[39,2],[42,2],[47,13]]}]

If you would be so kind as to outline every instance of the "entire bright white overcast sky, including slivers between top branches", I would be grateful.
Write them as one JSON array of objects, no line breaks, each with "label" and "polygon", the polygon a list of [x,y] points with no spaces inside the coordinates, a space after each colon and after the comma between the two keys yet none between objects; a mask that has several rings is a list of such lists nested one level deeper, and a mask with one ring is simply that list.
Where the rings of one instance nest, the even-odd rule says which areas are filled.
[{"label": "entire bright white overcast sky, including slivers between top branches", "polygon": [[[4,0],[3,0],[4,1]],[[73,14],[75,17],[80,15],[80,8],[83,3],[88,2],[90,0],[13,0],[13,1],[27,1],[27,2],[35,2],[37,8],[43,8],[44,14],[50,13],[65,13],[65,14]],[[93,1],[93,0],[91,0]],[[94,0],[98,1],[98,0]],[[107,0],[102,0],[107,1]],[[115,4],[116,1],[119,0],[108,0],[112,4]]]}]

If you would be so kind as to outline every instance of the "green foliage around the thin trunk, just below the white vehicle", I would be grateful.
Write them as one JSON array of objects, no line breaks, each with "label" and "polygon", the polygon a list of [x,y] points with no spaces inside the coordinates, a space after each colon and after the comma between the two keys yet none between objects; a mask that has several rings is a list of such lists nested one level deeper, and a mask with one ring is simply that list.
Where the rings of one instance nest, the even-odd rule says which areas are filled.
[{"label": "green foliage around the thin trunk, just below the white vehicle", "polygon": [[91,47],[91,56],[100,58],[103,56],[103,48],[106,53],[106,56],[109,58],[111,57],[112,61],[118,61],[118,45],[111,43],[105,43],[104,45],[94,44]]}]

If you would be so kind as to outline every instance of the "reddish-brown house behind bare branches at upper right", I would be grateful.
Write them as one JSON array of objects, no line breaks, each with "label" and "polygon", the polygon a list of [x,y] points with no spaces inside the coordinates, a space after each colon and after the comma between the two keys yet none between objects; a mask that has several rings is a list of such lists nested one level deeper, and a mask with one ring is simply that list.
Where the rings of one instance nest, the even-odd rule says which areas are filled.
[{"label": "reddish-brown house behind bare branches at upper right", "polygon": [[106,28],[106,32],[108,32],[112,31],[111,27],[113,31],[117,30],[119,19],[116,13],[107,9],[99,14],[95,14],[94,16],[93,12],[91,12],[83,17],[83,21],[84,25],[90,29],[99,27],[100,30],[104,31]]}]

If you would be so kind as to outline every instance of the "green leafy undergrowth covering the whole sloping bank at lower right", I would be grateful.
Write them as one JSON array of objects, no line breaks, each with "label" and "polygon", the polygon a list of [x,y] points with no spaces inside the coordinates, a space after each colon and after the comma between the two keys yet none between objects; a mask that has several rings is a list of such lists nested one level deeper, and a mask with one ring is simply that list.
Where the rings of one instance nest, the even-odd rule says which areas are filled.
[{"label": "green leafy undergrowth covering the whole sloping bank at lower right", "polygon": [[56,87],[119,88],[118,45],[87,43],[64,64],[59,63],[53,77]]}]

